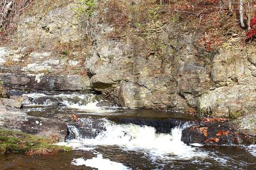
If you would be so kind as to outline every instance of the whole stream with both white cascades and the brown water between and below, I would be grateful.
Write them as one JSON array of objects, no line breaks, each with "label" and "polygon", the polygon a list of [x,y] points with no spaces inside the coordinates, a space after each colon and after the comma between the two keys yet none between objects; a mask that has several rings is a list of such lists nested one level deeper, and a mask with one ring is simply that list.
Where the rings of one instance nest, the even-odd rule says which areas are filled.
[{"label": "whole stream with both white cascades and the brown water between and below", "polygon": [[[44,159],[31,157],[44,167],[51,164],[53,157],[56,161],[49,169],[62,166],[65,169],[84,169],[86,166],[86,169],[104,170],[255,169],[256,166],[255,145],[184,144],[180,141],[182,129],[191,124],[191,117],[187,115],[104,107],[98,105],[102,99],[95,94],[45,92],[24,96],[29,97],[23,103],[28,115],[66,121],[72,114],[79,117],[77,122],[68,123],[66,142],[58,144],[72,146],[73,152]],[[0,165],[1,159],[3,157],[0,157]],[[15,164],[20,167],[19,162]],[[27,164],[23,169],[28,169]]]}]

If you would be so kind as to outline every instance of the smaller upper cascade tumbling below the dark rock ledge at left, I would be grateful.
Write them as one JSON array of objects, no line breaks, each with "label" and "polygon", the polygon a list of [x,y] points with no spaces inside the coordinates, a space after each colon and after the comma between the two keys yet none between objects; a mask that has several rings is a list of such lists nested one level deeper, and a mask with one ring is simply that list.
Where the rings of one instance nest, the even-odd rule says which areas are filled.
[{"label": "smaller upper cascade tumbling below the dark rock ledge at left", "polygon": [[[90,113],[90,115],[106,115],[115,113],[118,107],[109,106],[101,107],[97,104],[101,101],[95,94],[43,94],[31,93],[23,94],[29,99],[24,101],[23,105],[28,108],[26,111],[42,111],[45,107],[47,109],[52,106],[59,106],[59,110],[65,110],[73,113]],[[39,107],[36,108],[35,106]]]}]

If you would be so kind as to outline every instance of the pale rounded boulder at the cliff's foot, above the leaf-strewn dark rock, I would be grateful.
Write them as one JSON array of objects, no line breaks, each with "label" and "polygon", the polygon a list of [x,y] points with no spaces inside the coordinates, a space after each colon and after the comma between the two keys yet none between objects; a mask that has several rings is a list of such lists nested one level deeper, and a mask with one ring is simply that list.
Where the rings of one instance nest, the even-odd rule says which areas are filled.
[{"label": "pale rounded boulder at the cliff's foot, above the leaf-strewn dark rock", "polygon": [[255,113],[255,85],[219,87],[202,95],[199,109],[214,116],[237,118]]}]

